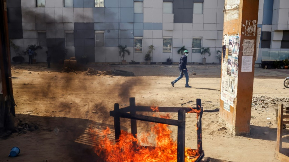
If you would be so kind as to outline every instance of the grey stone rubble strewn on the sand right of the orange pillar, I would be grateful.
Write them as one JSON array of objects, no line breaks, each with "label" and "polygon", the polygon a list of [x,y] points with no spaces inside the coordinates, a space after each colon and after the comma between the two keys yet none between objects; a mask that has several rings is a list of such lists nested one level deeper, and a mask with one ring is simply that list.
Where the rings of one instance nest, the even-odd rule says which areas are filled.
[{"label": "grey stone rubble strewn on the sand right of the orange pillar", "polygon": [[283,104],[284,107],[289,106],[289,98],[278,98],[278,97],[267,97],[259,96],[252,98],[252,109],[268,109],[268,108],[277,108],[278,104]]}]

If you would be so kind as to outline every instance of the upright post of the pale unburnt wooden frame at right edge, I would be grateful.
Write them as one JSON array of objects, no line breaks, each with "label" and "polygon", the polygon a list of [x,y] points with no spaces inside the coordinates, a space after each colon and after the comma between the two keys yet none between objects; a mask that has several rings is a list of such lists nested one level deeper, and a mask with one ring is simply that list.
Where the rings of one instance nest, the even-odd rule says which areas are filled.
[{"label": "upright post of the pale unburnt wooden frame at right edge", "polygon": [[276,151],[280,152],[280,148],[282,147],[282,119],[283,117],[283,104],[279,104],[278,106],[278,122],[277,122],[277,144],[276,144]]}]

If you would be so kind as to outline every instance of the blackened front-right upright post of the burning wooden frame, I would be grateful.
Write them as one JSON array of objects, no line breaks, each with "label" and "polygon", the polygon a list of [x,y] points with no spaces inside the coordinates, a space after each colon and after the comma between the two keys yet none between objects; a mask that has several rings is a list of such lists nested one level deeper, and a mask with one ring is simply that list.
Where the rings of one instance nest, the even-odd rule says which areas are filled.
[{"label": "blackened front-right upright post of the burning wooden frame", "polygon": [[[179,110],[178,120],[186,122],[186,112]],[[185,162],[185,137],[186,126],[178,126],[178,141],[177,141],[177,162]]]}]

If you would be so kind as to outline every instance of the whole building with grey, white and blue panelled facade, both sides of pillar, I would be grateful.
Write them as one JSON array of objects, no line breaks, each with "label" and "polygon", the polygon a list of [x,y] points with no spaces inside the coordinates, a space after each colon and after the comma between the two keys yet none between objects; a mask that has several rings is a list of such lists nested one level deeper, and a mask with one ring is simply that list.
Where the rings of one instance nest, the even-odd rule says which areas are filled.
[{"label": "whole building with grey, white and blue panelled facade, both sides of pillar", "polygon": [[[200,63],[201,47],[210,47],[208,63],[219,62],[225,0],[9,0],[9,37],[24,50],[41,45],[37,61],[45,62],[54,44],[63,42],[67,58],[87,55],[90,62],[120,62],[117,46],[127,45],[130,62],[178,62],[185,46],[188,62]],[[256,63],[283,59],[289,52],[289,1],[259,0],[258,27],[262,28]],[[11,56],[15,52],[11,49]],[[25,58],[26,61],[28,60]]]}]

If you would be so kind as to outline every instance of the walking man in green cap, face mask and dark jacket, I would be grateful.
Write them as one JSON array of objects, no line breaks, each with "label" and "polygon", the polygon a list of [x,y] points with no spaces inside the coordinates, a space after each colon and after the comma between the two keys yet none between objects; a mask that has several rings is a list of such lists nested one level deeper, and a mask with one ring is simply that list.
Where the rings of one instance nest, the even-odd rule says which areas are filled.
[{"label": "walking man in green cap, face mask and dark jacket", "polygon": [[185,75],[186,77],[186,88],[192,88],[191,86],[189,86],[189,74],[188,74],[188,69],[186,67],[187,65],[187,59],[188,59],[188,55],[189,55],[189,51],[185,50],[184,51],[184,55],[179,59],[179,77],[176,78],[176,80],[172,81],[172,87],[175,87],[174,84],[179,81],[180,79],[183,78],[183,76]]}]

